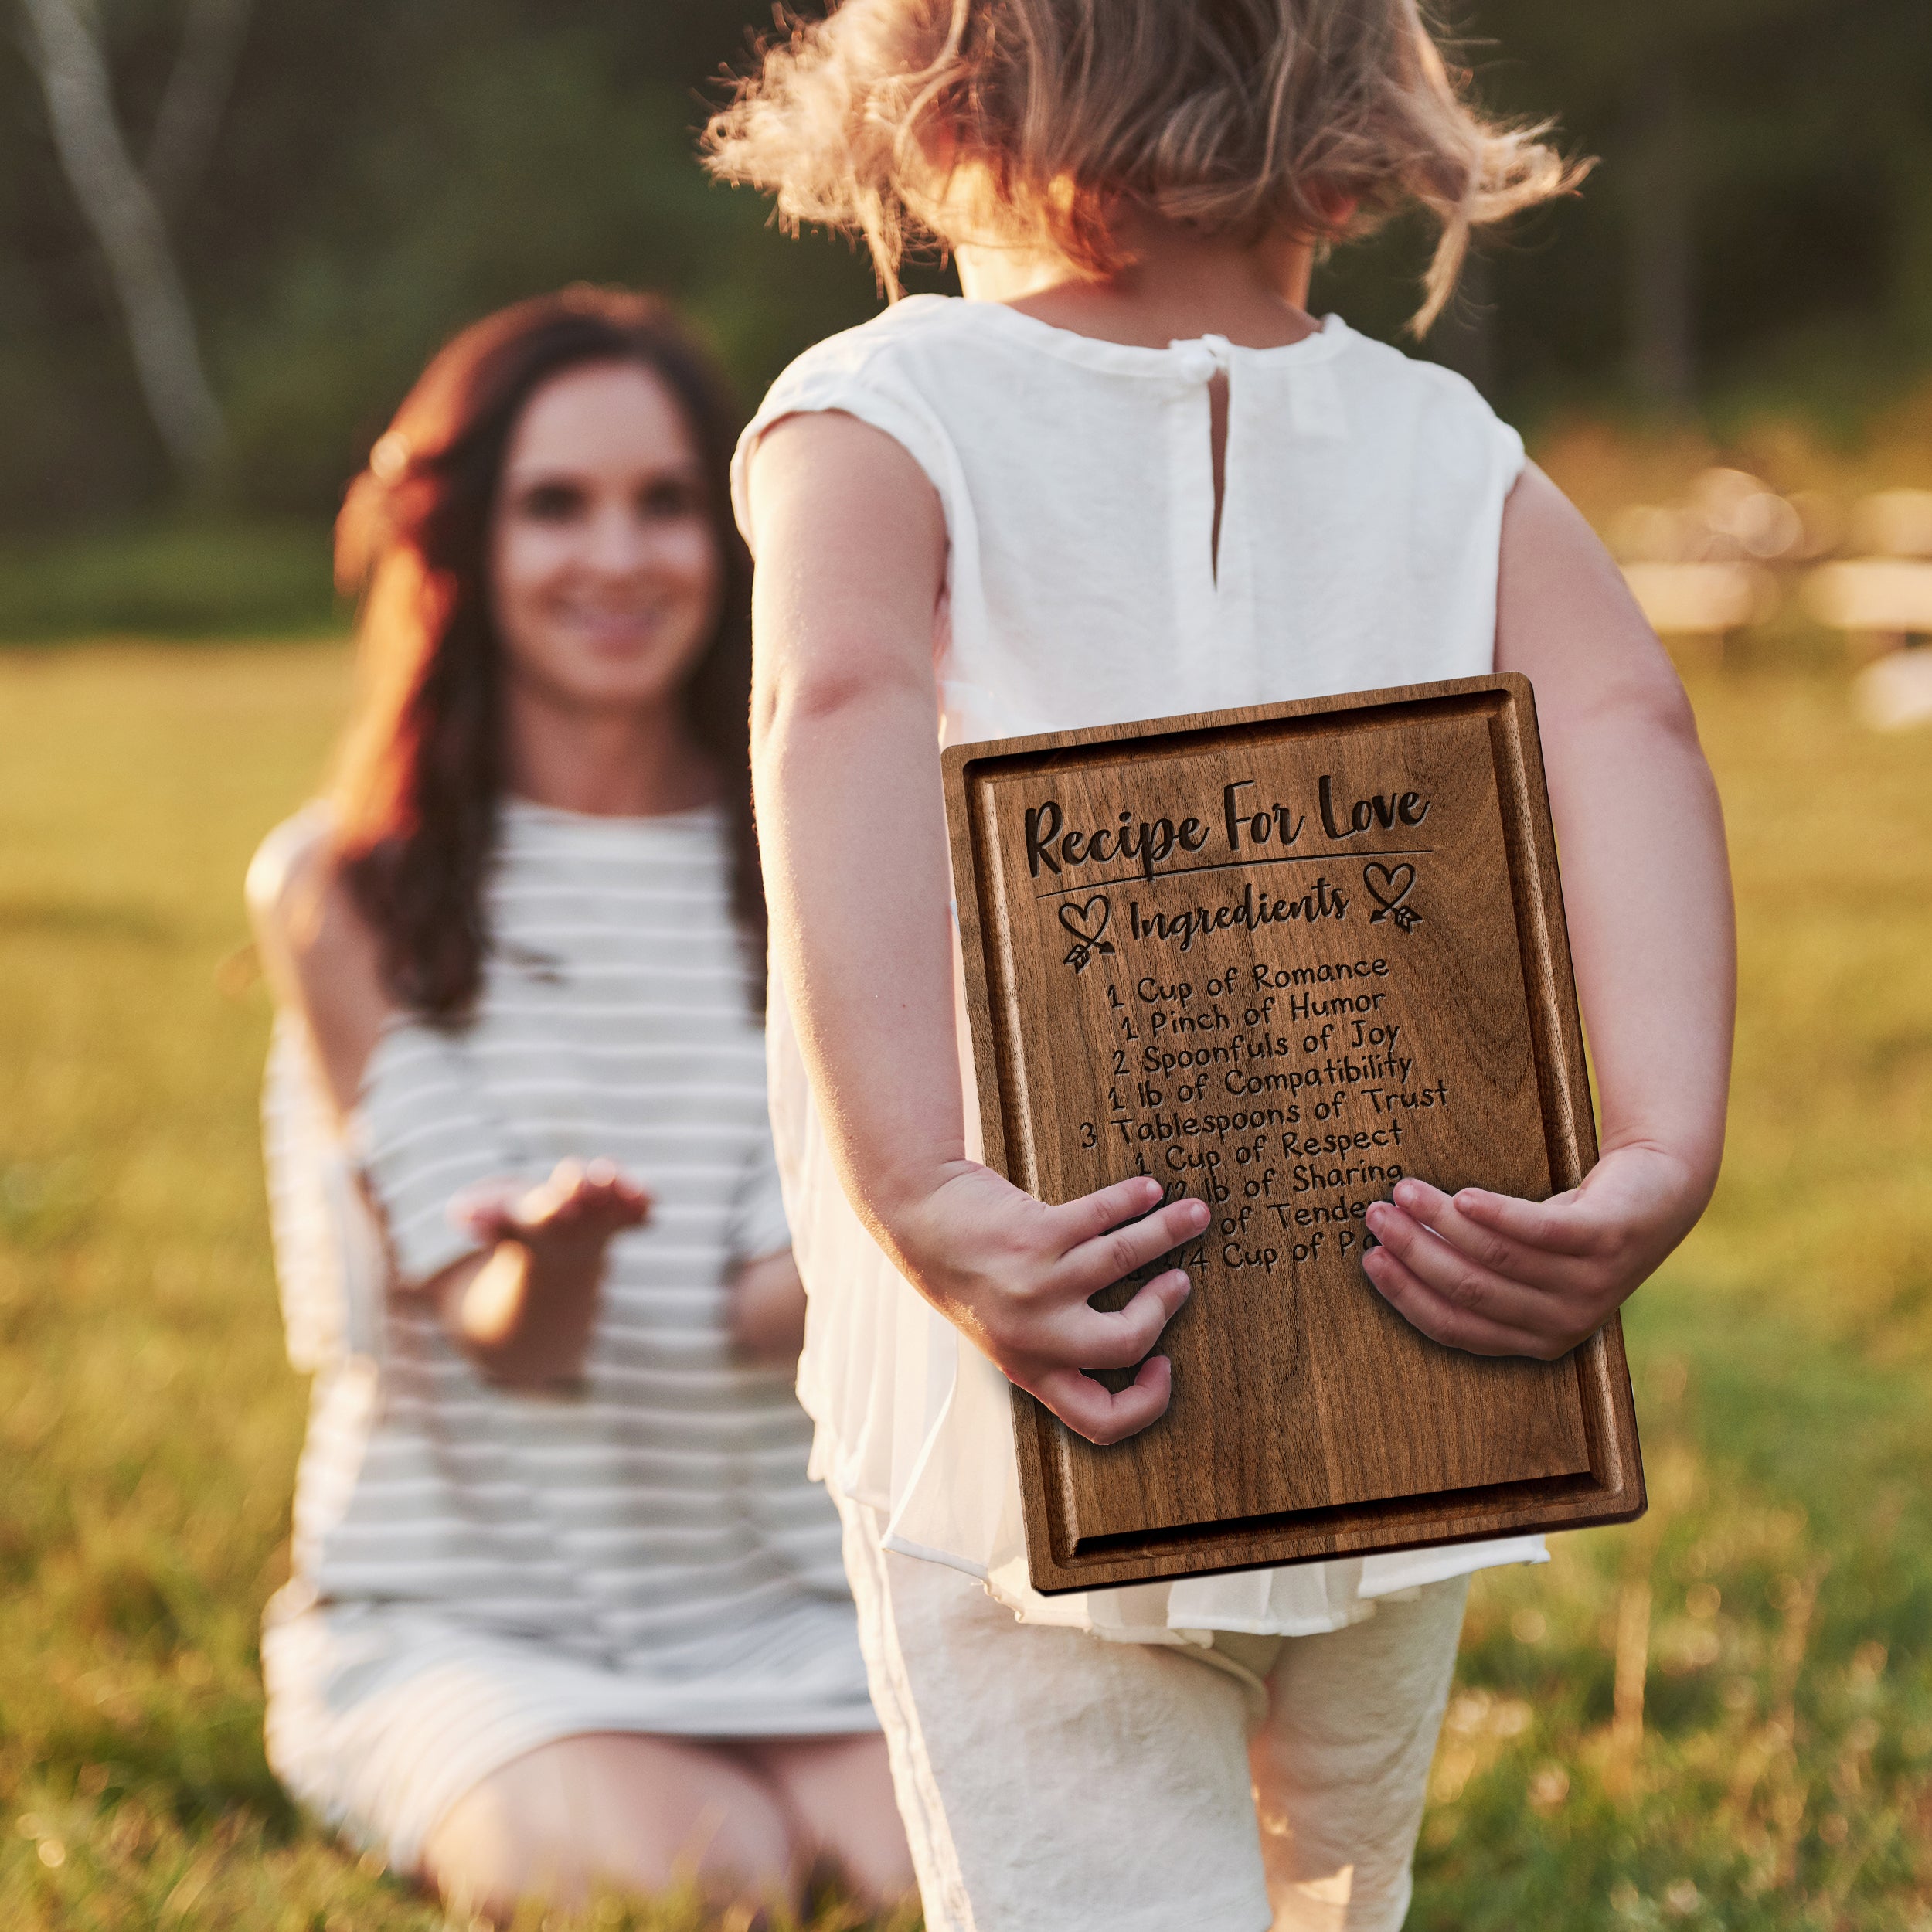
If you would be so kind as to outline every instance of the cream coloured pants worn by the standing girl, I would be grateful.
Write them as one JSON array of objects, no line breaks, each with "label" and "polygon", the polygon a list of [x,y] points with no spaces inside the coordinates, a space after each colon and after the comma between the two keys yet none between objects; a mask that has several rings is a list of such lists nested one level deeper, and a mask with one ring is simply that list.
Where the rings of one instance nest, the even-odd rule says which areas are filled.
[{"label": "cream coloured pants worn by the standing girl", "polygon": [[1397,1932],[1468,1578],[1215,1662],[1024,1625],[838,1507],[927,1932]]}]

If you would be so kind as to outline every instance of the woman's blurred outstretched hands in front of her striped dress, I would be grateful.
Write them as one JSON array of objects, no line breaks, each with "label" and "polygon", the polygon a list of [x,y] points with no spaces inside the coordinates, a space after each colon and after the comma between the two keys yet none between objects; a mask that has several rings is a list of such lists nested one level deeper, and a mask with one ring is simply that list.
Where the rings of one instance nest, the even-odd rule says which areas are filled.
[{"label": "woman's blurred outstretched hands in front of her striped dress", "polygon": [[583,1374],[605,1248],[651,1217],[651,1196],[611,1161],[558,1161],[533,1188],[485,1182],[450,1219],[489,1246],[448,1269],[444,1325],[489,1381],[547,1389]]}]

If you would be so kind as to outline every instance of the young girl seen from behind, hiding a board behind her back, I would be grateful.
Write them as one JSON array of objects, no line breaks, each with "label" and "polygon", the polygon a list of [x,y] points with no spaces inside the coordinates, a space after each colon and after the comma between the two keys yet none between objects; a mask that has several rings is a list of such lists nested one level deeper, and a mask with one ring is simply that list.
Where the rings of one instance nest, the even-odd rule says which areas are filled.
[{"label": "young girl seen from behind, hiding a board behind her back", "polygon": [[[1519,439],[1306,313],[1318,245],[1420,203],[1428,321],[1470,228],[1573,176],[1466,104],[1416,0],[848,0],[711,141],[788,216],[862,230],[885,276],[937,236],[966,290],[806,354],[736,471],[800,1389],[927,1922],[1397,1926],[1466,1575],[1542,1546],[1028,1590],[1007,1383],[1095,1441],[1153,1422],[1186,1277],[1090,1296],[1208,1209],[1148,1213],[1150,1180],[1043,1206],[976,1163],[937,748],[1526,672],[1604,1157],[1542,1204],[1405,1180],[1364,1265],[1451,1347],[1590,1335],[1718,1171],[1710,775]],[[1121,1393],[1088,1374],[1132,1364]]]}]

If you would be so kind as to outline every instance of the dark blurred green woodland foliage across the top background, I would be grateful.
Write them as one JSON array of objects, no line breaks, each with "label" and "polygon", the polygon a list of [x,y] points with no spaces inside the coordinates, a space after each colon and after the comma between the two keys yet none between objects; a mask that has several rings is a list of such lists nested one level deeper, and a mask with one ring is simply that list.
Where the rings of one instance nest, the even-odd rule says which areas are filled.
[{"label": "dark blurred green woodland foliage across the top background", "polygon": [[[209,462],[170,462],[143,398],[48,112],[50,15],[91,29],[153,187],[218,410]],[[327,622],[313,537],[423,357],[497,303],[663,288],[746,398],[877,303],[850,247],[788,243],[694,166],[721,68],[771,25],[757,0],[21,0],[19,21],[0,50],[0,634],[205,634],[211,570],[230,624]],[[1488,102],[1602,158],[1482,249],[1428,346],[1505,413],[1721,437],[1777,410],[1855,440],[1932,371],[1924,0],[1463,0],[1451,23]],[[184,164],[162,124],[193,108],[197,58]],[[1337,251],[1320,305],[1397,336],[1426,247],[1399,224]]]}]

